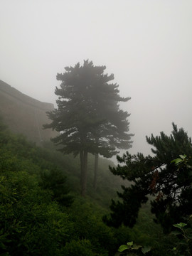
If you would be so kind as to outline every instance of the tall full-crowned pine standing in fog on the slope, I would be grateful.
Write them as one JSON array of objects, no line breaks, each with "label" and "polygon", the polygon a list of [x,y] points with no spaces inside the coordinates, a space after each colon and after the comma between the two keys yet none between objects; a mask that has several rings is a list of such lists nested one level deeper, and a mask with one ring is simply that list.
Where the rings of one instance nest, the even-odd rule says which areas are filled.
[{"label": "tall full-crowned pine standing in fog on the slope", "polygon": [[[109,84],[114,75],[105,75],[105,66],[94,66],[88,60],[84,65],[66,67],[58,74],[60,88],[56,87],[58,109],[48,112],[52,120],[45,128],[60,132],[53,139],[62,145],[63,154],[80,154],[81,194],[85,196],[87,183],[87,154],[110,157],[116,154],[116,146],[129,147],[129,114],[119,110],[118,85]],[[121,147],[120,147],[121,148]],[[97,162],[95,164],[97,167]],[[97,169],[97,168],[96,168]]]}]

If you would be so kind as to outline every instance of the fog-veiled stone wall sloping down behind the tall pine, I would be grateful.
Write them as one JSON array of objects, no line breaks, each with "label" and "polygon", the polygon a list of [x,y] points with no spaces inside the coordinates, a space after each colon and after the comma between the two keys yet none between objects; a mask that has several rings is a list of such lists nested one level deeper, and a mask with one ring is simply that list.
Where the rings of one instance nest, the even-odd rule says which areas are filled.
[{"label": "fog-veiled stone wall sloping down behind the tall pine", "polygon": [[53,109],[53,104],[35,100],[0,80],[0,115],[11,132],[37,144],[55,137],[51,129],[42,129],[49,122],[46,112]]}]

